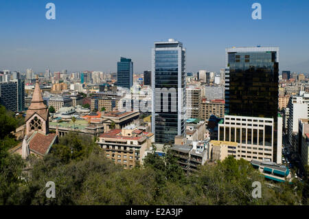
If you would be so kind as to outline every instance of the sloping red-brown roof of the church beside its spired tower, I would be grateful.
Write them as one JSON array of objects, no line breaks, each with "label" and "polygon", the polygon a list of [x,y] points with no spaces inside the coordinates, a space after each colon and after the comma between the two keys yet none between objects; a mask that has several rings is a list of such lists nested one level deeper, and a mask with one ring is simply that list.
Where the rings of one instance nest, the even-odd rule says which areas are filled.
[{"label": "sloping red-brown roof of the church beside its spired tower", "polygon": [[56,139],[56,134],[51,133],[49,135],[43,135],[40,132],[36,132],[34,137],[30,139],[29,147],[30,150],[34,150],[34,152],[38,152],[40,154],[46,154],[49,146],[54,142]]}]

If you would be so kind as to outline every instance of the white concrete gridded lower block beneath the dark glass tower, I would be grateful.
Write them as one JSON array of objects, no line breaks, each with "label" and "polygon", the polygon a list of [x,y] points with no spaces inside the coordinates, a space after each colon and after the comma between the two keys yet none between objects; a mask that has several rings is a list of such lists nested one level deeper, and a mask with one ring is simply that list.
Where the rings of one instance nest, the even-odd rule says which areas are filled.
[{"label": "white concrete gridded lower block beneath the dark glass tower", "polygon": [[[282,127],[282,117],[277,118],[278,128]],[[223,124],[218,125],[218,140],[236,142],[236,159],[277,159],[282,161],[282,128],[274,135],[274,119],[263,117],[242,117],[225,115]],[[274,148],[275,141],[279,146]],[[277,149],[277,150],[275,150]]]}]

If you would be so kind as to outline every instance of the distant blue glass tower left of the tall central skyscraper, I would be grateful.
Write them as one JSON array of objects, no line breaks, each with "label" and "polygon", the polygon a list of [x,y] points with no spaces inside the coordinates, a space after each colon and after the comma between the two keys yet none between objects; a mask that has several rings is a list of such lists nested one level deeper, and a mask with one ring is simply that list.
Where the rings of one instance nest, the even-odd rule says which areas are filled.
[{"label": "distant blue glass tower left of the tall central skyscraper", "polygon": [[133,62],[130,58],[120,57],[117,62],[117,87],[130,89],[133,86]]}]

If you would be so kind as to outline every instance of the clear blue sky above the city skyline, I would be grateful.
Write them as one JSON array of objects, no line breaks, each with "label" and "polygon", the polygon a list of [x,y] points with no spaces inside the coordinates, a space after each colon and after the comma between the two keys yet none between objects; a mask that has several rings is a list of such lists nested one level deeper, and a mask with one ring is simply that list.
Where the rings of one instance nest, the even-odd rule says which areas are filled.
[{"label": "clear blue sky above the city skyline", "polygon": [[[49,2],[56,20],[45,17]],[[188,72],[219,72],[226,47],[261,45],[279,47],[280,71],[309,73],[308,0],[0,0],[0,14],[0,70],[115,72],[123,56],[140,73],[153,43],[174,38]]]}]

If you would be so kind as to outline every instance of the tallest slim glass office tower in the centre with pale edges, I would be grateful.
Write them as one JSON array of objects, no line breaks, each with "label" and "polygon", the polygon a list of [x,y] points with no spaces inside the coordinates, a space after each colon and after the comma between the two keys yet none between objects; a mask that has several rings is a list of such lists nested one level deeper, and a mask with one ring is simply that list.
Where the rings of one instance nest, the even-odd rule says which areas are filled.
[{"label": "tallest slim glass office tower in the centre with pale edges", "polygon": [[185,49],[169,39],[152,49],[152,132],[157,143],[185,137]]}]

